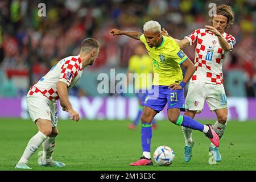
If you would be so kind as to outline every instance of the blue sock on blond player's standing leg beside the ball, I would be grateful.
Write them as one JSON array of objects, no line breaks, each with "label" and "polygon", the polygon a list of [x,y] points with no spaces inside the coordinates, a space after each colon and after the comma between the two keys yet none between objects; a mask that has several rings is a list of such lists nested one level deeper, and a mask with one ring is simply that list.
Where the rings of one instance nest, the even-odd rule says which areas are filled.
[{"label": "blue sock on blond player's standing leg beside the ball", "polygon": [[141,122],[141,145],[143,152],[150,152],[152,124]]}]

